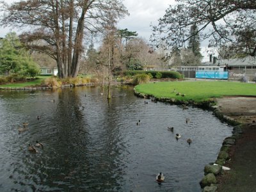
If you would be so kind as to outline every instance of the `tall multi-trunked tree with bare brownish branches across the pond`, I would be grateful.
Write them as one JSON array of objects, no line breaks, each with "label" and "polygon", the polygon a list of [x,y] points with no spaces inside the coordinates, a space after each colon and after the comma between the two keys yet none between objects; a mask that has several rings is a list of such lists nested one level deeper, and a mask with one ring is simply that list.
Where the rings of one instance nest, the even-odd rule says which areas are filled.
[{"label": "tall multi-trunked tree with bare brownish branches across the pond", "polygon": [[26,0],[4,8],[1,25],[24,28],[23,42],[56,60],[60,77],[77,76],[85,31],[102,29],[109,12],[117,18],[127,13],[122,0]]}]

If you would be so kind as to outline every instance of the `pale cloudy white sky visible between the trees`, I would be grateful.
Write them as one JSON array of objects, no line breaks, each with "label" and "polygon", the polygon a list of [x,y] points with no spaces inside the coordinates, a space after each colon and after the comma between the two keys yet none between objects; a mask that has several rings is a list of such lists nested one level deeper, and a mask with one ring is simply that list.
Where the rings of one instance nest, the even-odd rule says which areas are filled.
[{"label": "pale cloudy white sky visible between the trees", "polygon": [[[4,1],[11,3],[19,0]],[[163,17],[165,10],[174,2],[175,0],[124,0],[123,3],[130,15],[118,22],[118,28],[136,31],[139,37],[149,40],[152,34],[150,24],[157,25],[157,20]],[[0,37],[4,37],[9,31],[8,28],[0,28]],[[204,50],[205,48],[202,47],[203,55],[205,55]]]}]

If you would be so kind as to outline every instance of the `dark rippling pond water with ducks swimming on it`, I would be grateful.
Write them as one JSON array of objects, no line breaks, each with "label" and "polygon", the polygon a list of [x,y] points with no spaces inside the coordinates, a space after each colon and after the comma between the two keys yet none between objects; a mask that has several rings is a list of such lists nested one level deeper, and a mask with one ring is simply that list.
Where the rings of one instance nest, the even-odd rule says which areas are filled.
[{"label": "dark rippling pond water with ducks swimming on it", "polygon": [[[101,92],[0,92],[0,191],[200,191],[204,166],[232,127],[211,111],[145,104],[129,86],[113,87],[109,103]],[[19,133],[23,122],[28,131]],[[44,148],[31,154],[36,140]]]}]

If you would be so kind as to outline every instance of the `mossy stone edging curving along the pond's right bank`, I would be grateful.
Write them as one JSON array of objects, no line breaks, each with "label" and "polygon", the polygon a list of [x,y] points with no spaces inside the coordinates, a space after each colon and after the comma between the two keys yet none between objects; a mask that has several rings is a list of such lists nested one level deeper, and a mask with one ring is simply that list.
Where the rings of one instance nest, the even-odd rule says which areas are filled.
[{"label": "mossy stone edging curving along the pond's right bank", "polygon": [[144,93],[136,92],[134,90],[134,94],[138,97],[143,97],[147,99],[152,99],[152,101],[161,101],[161,102],[168,102],[170,104],[177,104],[177,105],[193,105],[198,108],[203,109],[210,109],[213,111],[214,115],[219,118],[220,120],[224,120],[228,124],[234,125],[234,129],[232,131],[232,136],[229,136],[223,140],[222,147],[218,154],[218,157],[215,163],[209,163],[204,167],[204,178],[200,181],[200,186],[203,192],[216,192],[218,188],[216,176],[221,174],[223,170],[223,164],[228,161],[230,158],[228,156],[228,151],[232,145],[236,145],[236,140],[243,134],[242,125],[236,122],[233,118],[230,118],[227,115],[223,115],[221,111],[216,107],[212,106],[215,102],[214,100],[204,101],[204,102],[194,102],[193,100],[189,101],[180,101],[175,99],[169,98],[157,98],[153,95],[147,95]]}]

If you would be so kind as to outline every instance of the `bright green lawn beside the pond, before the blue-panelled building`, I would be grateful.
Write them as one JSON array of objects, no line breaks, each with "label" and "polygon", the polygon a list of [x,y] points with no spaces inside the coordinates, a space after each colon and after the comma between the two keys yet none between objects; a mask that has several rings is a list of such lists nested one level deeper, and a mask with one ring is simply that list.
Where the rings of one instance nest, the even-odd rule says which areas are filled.
[{"label": "bright green lawn beside the pond, before the blue-panelled building", "polygon": [[[175,89],[175,92],[173,90]],[[154,97],[174,98],[177,100],[208,100],[224,95],[256,95],[256,84],[227,81],[172,81],[139,84],[135,90]],[[185,97],[176,93],[184,93]]]}]

